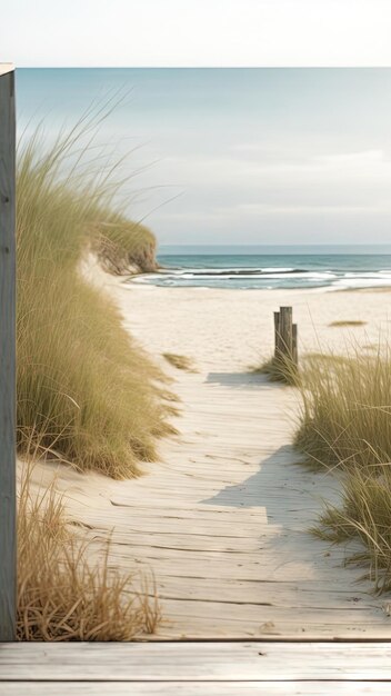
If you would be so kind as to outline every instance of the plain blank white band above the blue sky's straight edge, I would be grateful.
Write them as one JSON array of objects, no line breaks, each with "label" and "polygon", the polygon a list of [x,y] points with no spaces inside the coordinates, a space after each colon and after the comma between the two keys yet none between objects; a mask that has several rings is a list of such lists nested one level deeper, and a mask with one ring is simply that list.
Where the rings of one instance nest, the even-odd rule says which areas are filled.
[{"label": "plain blank white band above the blue sky's straight edge", "polygon": [[387,66],[389,0],[9,0],[18,66]]}]

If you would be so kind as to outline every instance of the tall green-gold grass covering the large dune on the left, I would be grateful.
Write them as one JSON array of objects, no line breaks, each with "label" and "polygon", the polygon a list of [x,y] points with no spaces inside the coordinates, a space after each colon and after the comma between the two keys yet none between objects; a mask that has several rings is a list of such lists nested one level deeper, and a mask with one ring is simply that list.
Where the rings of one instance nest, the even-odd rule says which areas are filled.
[{"label": "tall green-gold grass covering the large dune on the left", "polygon": [[50,150],[32,139],[19,152],[19,450],[42,443],[81,469],[130,477],[139,460],[156,458],[156,438],[172,431],[163,376],[78,265],[101,245],[102,229],[120,230],[117,251],[122,245],[127,260],[134,249],[148,256],[153,242],[147,228],[126,223],[100,175],[67,170],[74,150],[77,136]]}]

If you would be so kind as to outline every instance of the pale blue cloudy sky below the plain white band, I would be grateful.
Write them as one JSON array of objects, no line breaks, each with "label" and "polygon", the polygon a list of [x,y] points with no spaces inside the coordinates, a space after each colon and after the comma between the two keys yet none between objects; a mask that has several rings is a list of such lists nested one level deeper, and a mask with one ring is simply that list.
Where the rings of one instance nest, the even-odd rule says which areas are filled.
[{"label": "pale blue cloudy sky below the plain white band", "polygon": [[[101,142],[137,148],[129,212],[163,243],[391,239],[391,69],[19,70],[19,128],[131,90]],[[170,200],[173,199],[173,200]],[[168,201],[168,202],[167,202]]]}]

